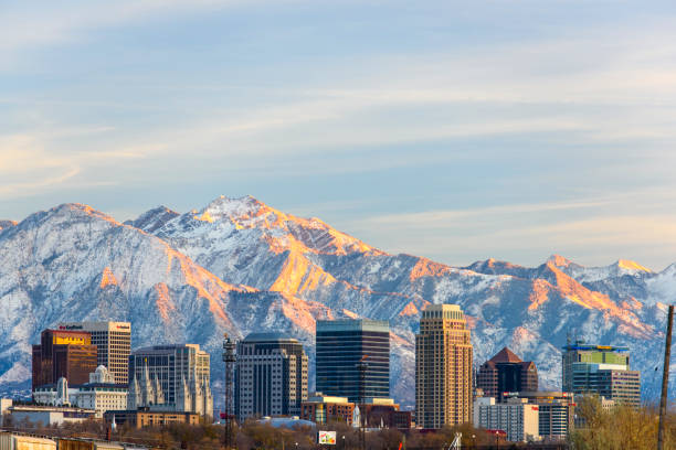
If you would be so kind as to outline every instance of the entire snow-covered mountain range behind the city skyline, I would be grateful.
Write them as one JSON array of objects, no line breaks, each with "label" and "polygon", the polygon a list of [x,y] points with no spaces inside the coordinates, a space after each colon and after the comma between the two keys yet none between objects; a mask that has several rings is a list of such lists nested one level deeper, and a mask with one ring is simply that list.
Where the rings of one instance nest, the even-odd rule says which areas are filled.
[{"label": "entire snow-covered mountain range behind the city skyline", "polygon": [[624,344],[648,399],[674,294],[676,265],[585,268],[553,256],[536,268],[494,259],[456,268],[390,255],[253,197],[186,214],[160,206],[124,224],[67,204],[0,229],[0,384],[30,377],[30,344],[59,321],[129,320],[134,346],[199,343],[220,386],[223,332],[286,331],[311,363],[316,319],[367,317],[390,321],[392,395],[413,406],[420,311],[447,302],[468,315],[477,365],[509,346],[554,388],[567,336]]}]

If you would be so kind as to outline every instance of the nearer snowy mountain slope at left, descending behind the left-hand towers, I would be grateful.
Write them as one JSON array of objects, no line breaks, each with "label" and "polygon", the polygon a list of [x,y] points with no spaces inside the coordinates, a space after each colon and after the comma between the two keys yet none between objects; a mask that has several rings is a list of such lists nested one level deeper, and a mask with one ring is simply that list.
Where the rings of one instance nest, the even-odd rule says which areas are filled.
[{"label": "nearer snowy mountain slope at left, descending behind the left-hand towers", "polygon": [[313,314],[331,315],[323,304],[223,282],[163,240],[78,204],[2,233],[0,304],[3,384],[30,377],[30,345],[60,321],[128,320],[135,346],[196,342],[215,356],[224,331],[281,328],[309,339]]}]

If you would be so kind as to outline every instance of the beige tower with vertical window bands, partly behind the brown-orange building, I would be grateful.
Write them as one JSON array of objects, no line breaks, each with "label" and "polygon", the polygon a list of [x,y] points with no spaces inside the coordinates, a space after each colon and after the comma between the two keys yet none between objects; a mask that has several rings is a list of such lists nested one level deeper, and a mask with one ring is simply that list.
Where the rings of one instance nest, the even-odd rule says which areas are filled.
[{"label": "beige tower with vertical window bands, partly behind the brown-orange building", "polygon": [[96,345],[97,364],[104,365],[117,384],[129,383],[129,352],[131,350],[131,324],[129,322],[66,322],[59,330],[87,331],[92,344]]}]

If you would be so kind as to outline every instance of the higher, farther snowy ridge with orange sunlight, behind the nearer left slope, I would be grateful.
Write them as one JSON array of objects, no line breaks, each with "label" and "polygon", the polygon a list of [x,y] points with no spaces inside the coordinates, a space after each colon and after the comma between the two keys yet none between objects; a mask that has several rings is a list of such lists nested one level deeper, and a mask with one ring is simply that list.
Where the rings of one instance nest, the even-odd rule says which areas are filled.
[{"label": "higher, farther snowy ridge with orange sunlight, behind the nearer left slope", "polygon": [[[548,356],[560,355],[569,333],[636,349],[659,344],[658,311],[616,291],[615,283],[604,291],[585,281],[603,282],[605,275],[653,275],[637,264],[587,269],[553,256],[538,268],[494,259],[454,268],[411,255],[389,255],[321,221],[281,213],[253,197],[219,197],[154,233],[225,281],[390,320],[393,332],[406,342],[412,342],[426,303],[458,303],[476,318],[477,362],[490,357],[494,347],[515,344],[509,340],[521,330],[519,345],[526,352],[521,356],[538,363],[545,386],[560,384],[560,362]],[[486,330],[493,331],[485,335]],[[482,342],[483,336],[493,341]],[[410,351],[410,346],[394,349],[393,357],[403,362]],[[652,364],[647,360],[636,352],[636,364]],[[412,364],[413,360],[406,367]]]}]

